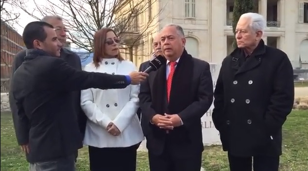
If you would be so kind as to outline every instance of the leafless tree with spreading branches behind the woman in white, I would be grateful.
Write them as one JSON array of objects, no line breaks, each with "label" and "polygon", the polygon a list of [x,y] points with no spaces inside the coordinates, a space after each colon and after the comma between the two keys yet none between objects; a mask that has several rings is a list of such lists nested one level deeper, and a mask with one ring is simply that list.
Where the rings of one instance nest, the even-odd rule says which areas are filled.
[{"label": "leafless tree with spreading branches behind the woman in white", "polygon": [[[37,3],[38,0],[33,0],[35,10],[39,11],[40,16],[62,16],[72,44],[91,52],[95,32],[102,28],[113,28],[121,38],[121,47],[128,49],[131,61],[133,47],[145,43],[142,39],[148,32],[154,31],[154,22],[158,22],[155,18],[159,12],[147,18],[149,22],[142,25],[142,22],[139,22],[142,16],[152,16],[149,11],[155,0],[59,0],[59,3],[47,1],[49,5],[42,6]],[[18,6],[30,16],[40,19],[40,16],[33,15],[31,10],[23,6],[23,3]]]}]

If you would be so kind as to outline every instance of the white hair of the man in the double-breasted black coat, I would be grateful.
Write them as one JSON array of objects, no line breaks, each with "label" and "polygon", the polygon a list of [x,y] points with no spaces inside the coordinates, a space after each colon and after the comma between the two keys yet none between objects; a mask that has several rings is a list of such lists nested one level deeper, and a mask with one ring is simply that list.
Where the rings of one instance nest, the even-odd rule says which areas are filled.
[{"label": "white hair of the man in the double-breasted black coat", "polygon": [[257,13],[245,13],[240,16],[240,18],[249,18],[251,19],[250,28],[253,31],[262,31],[266,28],[266,21],[264,17]]}]

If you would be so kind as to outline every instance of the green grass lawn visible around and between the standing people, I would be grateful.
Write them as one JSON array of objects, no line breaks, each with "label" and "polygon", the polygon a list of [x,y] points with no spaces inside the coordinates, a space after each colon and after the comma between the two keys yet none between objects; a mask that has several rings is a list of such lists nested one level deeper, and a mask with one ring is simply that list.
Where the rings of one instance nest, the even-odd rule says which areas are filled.
[{"label": "green grass lawn visible around and between the standing people", "polygon": [[[283,128],[283,155],[280,171],[308,171],[308,111],[293,111]],[[206,146],[206,171],[229,171],[221,146]],[[79,152],[77,171],[89,171],[87,148]],[[17,146],[11,113],[1,112],[1,171],[27,171],[24,154]],[[149,171],[146,152],[138,153],[137,171]]]}]

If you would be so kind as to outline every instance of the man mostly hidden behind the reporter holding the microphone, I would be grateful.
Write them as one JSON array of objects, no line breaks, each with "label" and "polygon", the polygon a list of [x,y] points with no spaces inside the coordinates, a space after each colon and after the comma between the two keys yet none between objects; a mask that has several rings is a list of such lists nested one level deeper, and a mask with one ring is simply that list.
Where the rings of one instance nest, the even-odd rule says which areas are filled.
[{"label": "man mostly hidden behind the reporter holding the microphone", "polygon": [[[41,21],[51,24],[54,27],[54,30],[56,31],[58,40],[62,43],[62,45],[66,44],[67,29],[64,26],[63,20],[60,16],[45,16],[44,18],[42,18]],[[13,74],[16,71],[16,69],[21,65],[21,63],[24,62],[25,56],[26,56],[26,50],[22,50],[19,53],[17,53],[17,55],[14,58],[13,67],[12,67]],[[68,64],[74,67],[75,69],[82,70],[81,61],[80,61],[79,56],[76,53],[68,50],[67,48],[61,48],[60,58],[68,62]],[[85,134],[85,130],[86,130],[86,115],[80,107],[80,91],[70,92],[70,98],[71,98],[71,103],[72,103],[70,112],[77,116],[80,133],[83,137]],[[14,118],[13,119],[14,125],[16,126],[17,124],[23,124],[23,123],[19,123],[19,120],[17,119],[18,115],[17,115],[16,100],[13,98],[12,92],[9,93],[9,103],[10,103],[10,108],[11,108],[13,118]],[[25,129],[21,131],[28,131],[28,130]],[[81,143],[80,148],[82,147],[83,147],[83,144]],[[77,155],[78,155],[78,151],[76,151],[76,156]]]}]

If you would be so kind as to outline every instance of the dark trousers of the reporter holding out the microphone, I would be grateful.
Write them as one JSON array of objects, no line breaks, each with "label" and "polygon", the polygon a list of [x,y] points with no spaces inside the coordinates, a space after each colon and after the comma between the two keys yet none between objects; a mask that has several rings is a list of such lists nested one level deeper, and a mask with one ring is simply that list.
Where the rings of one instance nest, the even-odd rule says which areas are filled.
[{"label": "dark trousers of the reporter holding out the microphone", "polygon": [[29,171],[75,171],[76,155],[62,157],[59,159],[30,163]]}]

